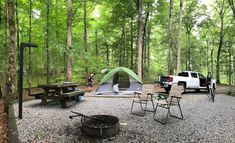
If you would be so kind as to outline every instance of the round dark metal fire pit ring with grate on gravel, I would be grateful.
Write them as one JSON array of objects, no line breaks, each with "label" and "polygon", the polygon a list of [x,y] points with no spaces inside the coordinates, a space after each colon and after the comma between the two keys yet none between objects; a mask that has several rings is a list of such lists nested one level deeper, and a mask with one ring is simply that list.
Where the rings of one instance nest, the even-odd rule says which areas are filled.
[{"label": "round dark metal fire pit ring with grate on gravel", "polygon": [[81,130],[87,135],[109,138],[115,136],[119,131],[119,119],[111,115],[92,115],[86,116],[81,113],[73,112],[76,115],[69,116],[70,119],[73,117],[81,116]]}]

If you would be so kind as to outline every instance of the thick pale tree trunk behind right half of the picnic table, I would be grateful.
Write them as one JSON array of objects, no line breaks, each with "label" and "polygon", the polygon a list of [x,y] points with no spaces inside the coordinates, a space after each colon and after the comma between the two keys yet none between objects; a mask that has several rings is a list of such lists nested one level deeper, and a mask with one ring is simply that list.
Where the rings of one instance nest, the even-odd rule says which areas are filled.
[{"label": "thick pale tree trunk behind right half of the picnic table", "polygon": [[67,46],[66,46],[66,81],[72,79],[72,59],[71,59],[71,46],[72,46],[72,0],[67,1]]}]

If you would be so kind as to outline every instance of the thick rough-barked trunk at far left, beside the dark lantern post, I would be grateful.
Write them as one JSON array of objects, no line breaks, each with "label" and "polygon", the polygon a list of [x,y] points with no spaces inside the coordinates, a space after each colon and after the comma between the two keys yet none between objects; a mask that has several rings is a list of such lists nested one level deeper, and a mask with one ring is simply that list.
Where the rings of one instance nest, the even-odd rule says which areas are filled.
[{"label": "thick rough-barked trunk at far left, beside the dark lantern post", "polygon": [[10,49],[9,63],[7,69],[6,95],[15,95],[16,93],[16,62],[15,62],[15,3],[14,0],[8,0],[8,23],[10,31]]}]

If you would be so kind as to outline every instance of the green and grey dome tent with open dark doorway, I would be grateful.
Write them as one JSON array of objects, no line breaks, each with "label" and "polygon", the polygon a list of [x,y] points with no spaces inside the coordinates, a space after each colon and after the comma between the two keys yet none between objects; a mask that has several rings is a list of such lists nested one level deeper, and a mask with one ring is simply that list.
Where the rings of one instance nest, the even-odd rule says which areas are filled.
[{"label": "green and grey dome tent with open dark doorway", "polygon": [[96,94],[133,94],[142,91],[142,82],[130,69],[117,67],[108,72],[100,82]]}]

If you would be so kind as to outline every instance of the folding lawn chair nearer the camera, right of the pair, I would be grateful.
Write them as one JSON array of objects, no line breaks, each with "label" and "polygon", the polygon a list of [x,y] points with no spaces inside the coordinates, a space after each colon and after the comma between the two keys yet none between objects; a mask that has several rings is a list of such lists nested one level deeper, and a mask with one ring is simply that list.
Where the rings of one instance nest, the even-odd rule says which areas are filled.
[{"label": "folding lawn chair nearer the camera, right of the pair", "polygon": [[[157,101],[156,109],[155,109],[155,112],[154,112],[154,115],[153,115],[153,119],[155,121],[160,122],[161,124],[165,125],[166,122],[167,122],[169,114],[172,117],[183,120],[183,113],[182,113],[182,110],[181,110],[181,107],[180,107],[180,99],[182,98],[181,97],[182,88],[183,87],[180,86],[180,85],[172,85],[169,95],[159,94],[159,99]],[[171,106],[178,106],[179,107],[181,117],[177,117],[177,116],[174,116],[174,115],[171,114],[171,112],[170,112]],[[155,118],[158,107],[162,107],[164,109],[167,109],[167,115],[166,115],[166,118],[165,118],[164,122]]]}]

